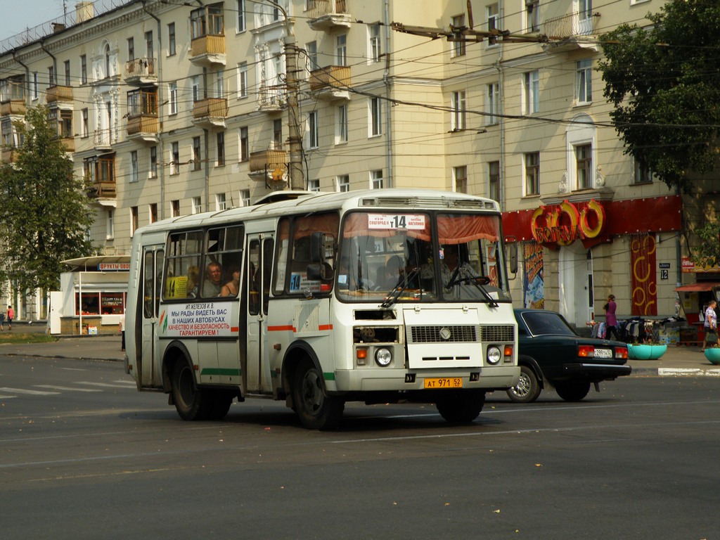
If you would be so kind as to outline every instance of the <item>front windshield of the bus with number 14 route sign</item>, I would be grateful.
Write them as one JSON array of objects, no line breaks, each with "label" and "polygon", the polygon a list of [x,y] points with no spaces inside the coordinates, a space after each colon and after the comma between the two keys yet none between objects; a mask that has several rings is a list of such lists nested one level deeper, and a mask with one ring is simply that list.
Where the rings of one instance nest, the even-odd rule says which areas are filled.
[{"label": "front windshield of the bus with number 14 route sign", "polygon": [[510,302],[498,215],[352,212],[336,294],[346,302]]}]

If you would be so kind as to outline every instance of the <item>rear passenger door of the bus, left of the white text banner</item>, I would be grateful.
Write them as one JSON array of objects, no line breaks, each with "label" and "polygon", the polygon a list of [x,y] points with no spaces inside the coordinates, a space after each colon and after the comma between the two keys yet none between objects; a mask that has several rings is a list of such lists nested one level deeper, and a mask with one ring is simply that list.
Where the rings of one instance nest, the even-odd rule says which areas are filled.
[{"label": "rear passenger door of the bus, left of the white text banner", "polygon": [[[158,386],[161,381],[156,378],[156,362],[158,361],[158,312],[160,310],[160,294],[165,259],[165,246],[143,247],[143,296],[142,305],[142,347],[140,374],[142,386]],[[136,320],[140,320],[138,317]]]}]

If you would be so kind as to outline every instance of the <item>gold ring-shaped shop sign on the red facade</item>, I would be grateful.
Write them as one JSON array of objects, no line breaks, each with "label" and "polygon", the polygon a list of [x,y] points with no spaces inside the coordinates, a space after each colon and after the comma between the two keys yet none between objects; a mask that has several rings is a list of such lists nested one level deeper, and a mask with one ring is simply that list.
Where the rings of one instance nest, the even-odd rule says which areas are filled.
[{"label": "gold ring-shaped shop sign on the red facade", "polygon": [[533,238],[541,244],[569,246],[575,240],[593,240],[606,228],[605,208],[595,199],[572,204],[567,199],[557,206],[541,206],[533,213]]}]

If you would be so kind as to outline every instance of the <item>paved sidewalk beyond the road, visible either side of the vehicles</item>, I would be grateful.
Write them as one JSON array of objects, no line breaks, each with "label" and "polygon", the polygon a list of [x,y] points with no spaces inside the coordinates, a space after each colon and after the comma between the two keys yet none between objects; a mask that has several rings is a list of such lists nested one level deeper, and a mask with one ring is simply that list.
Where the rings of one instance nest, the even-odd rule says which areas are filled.
[{"label": "paved sidewalk beyond the road, visible either side of the vehicles", "polygon": [[[77,336],[55,343],[0,344],[0,356],[40,356],[84,360],[122,361],[120,336]],[[629,360],[631,377],[720,377],[720,366],[711,364],[698,347],[668,346],[660,360]]]}]

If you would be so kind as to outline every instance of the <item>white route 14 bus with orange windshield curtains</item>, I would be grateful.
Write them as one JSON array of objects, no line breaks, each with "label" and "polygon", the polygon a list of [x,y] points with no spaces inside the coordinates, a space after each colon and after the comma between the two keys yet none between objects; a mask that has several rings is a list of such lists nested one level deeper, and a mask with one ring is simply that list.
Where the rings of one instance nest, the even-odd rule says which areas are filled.
[{"label": "white route 14 bus with orange windshield curtains", "polygon": [[[429,190],[278,192],[135,232],[126,371],[185,420],[285,400],[311,429],[345,402],[471,422],[516,384],[498,204]],[[270,198],[272,199],[272,197]]]}]

